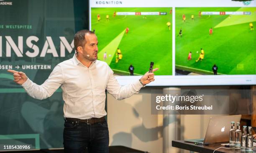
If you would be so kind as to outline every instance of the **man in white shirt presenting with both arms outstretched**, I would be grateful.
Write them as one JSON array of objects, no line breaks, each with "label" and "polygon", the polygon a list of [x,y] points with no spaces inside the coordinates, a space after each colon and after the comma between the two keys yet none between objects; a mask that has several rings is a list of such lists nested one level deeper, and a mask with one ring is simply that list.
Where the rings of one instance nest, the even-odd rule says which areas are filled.
[{"label": "man in white shirt presenting with both arms outstretched", "polygon": [[[64,152],[108,153],[108,124],[105,121],[105,90],[118,100],[131,97],[154,81],[146,73],[133,84],[121,87],[107,63],[97,60],[98,40],[92,31],[78,31],[74,36],[76,53],[63,61],[42,84],[33,83],[25,73],[13,73],[14,82],[22,85],[33,98],[45,99],[61,87],[64,99]],[[158,69],[154,69],[156,71]]]}]

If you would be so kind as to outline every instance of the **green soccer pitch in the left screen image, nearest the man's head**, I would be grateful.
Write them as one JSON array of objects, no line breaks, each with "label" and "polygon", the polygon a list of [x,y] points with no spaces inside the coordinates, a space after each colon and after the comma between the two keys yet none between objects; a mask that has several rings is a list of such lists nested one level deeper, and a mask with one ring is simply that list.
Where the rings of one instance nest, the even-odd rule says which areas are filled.
[{"label": "green soccer pitch in the left screen image, nearest the man's head", "polygon": [[[159,68],[155,75],[172,75],[172,8],[92,8],[91,30],[95,30],[99,44],[98,59],[110,65],[116,74],[130,75],[129,66],[134,66],[134,75],[148,71],[150,62]],[[116,12],[166,12],[167,15],[116,15]],[[97,15],[100,15],[100,21]],[[109,15],[109,20],[106,19]],[[129,28],[126,34],[125,29]],[[117,48],[123,58],[115,62]],[[104,60],[104,53],[107,59]]]}]

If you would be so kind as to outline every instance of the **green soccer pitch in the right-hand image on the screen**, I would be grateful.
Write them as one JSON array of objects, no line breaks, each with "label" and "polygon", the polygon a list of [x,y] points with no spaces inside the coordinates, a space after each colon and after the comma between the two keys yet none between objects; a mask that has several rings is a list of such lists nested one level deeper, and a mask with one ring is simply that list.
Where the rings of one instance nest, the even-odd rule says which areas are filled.
[{"label": "green soccer pitch in the right-hand image on the screen", "polygon": [[[199,12],[250,11],[251,15],[201,15]],[[212,74],[256,74],[256,8],[176,8],[176,69]],[[186,21],[182,20],[182,15]],[[195,15],[194,21],[191,15]],[[253,23],[254,30],[249,23]],[[179,30],[182,28],[182,38]],[[210,36],[209,30],[213,29]],[[196,62],[200,49],[204,59]],[[192,51],[192,60],[187,60]],[[198,51],[198,53],[197,53]]]}]

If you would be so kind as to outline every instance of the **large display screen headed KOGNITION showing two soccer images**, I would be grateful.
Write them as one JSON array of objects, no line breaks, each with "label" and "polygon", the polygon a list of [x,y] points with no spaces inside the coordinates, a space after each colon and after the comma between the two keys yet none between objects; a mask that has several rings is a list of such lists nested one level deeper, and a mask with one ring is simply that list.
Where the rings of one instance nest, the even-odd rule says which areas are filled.
[{"label": "large display screen headed KOGNITION showing two soccer images", "polygon": [[122,85],[151,61],[149,86],[256,84],[254,1],[90,0],[89,18],[98,59]]}]

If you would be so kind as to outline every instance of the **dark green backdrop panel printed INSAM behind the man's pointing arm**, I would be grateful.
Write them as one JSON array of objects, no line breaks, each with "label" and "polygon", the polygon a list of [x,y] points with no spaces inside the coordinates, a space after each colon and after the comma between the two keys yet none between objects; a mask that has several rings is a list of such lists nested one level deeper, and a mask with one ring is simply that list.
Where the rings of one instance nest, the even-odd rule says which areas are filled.
[{"label": "dark green backdrop panel printed INSAM behind the man's pointing arm", "polygon": [[[2,2],[2,1],[1,1]],[[86,0],[4,0],[0,5],[0,144],[63,148],[61,89],[33,99],[7,69],[42,84],[54,66],[74,55],[74,34],[88,29]],[[1,151],[1,150],[0,150]]]}]

